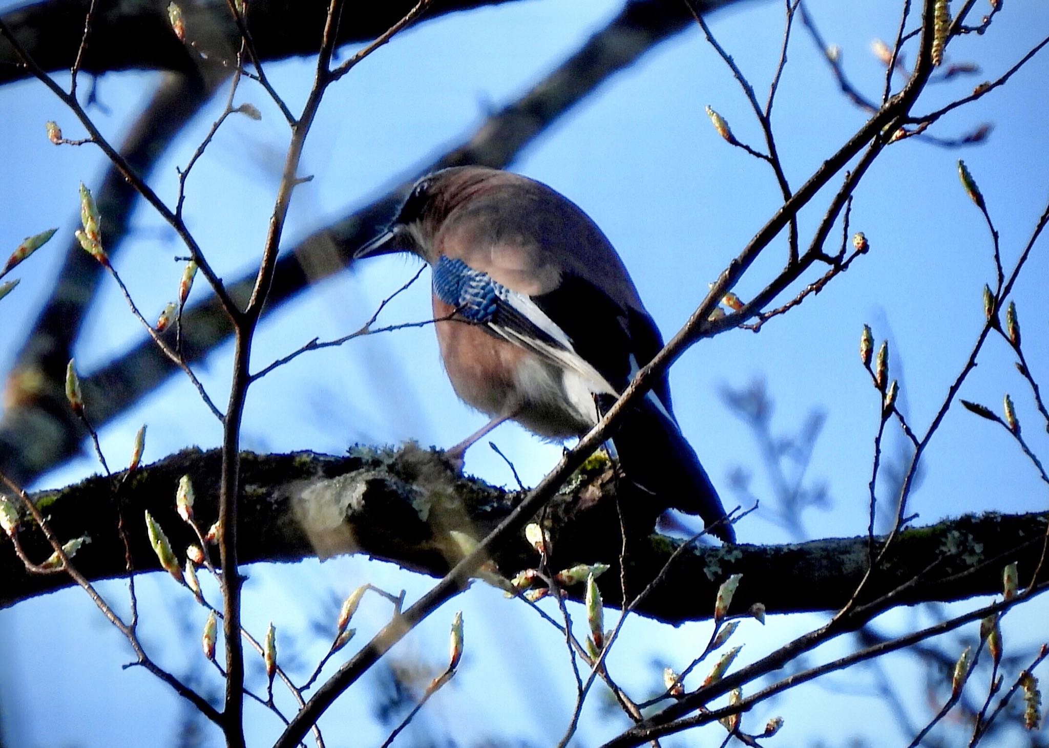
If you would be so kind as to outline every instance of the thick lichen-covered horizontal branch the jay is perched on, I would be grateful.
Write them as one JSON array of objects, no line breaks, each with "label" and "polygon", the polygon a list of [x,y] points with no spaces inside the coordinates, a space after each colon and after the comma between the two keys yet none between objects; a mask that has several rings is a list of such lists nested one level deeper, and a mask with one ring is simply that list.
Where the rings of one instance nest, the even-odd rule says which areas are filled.
[{"label": "thick lichen-covered horizontal branch the jay is perched on", "polygon": [[[406,446],[399,450],[355,448],[349,456],[312,452],[241,455],[243,501],[240,509],[240,559],[298,561],[341,553],[361,553],[391,561],[422,574],[442,576],[462,554],[449,531],[483,537],[504,519],[523,495],[505,491],[453,473],[437,453]],[[78,569],[98,579],[126,575],[123,541],[112,521],[117,510],[131,517],[129,541],[136,572],[156,571],[159,564],[145,527],[134,520],[143,510],[156,517],[183,549],[195,541],[192,530],[175,513],[175,488],[188,474],[196,490],[196,520],[208,527],[217,516],[219,452],[188,449],[159,463],[140,468],[120,491],[123,474],[94,476],[60,491],[33,495],[50,516],[63,541],[87,534],[91,542],[77,554]],[[558,495],[553,518],[550,568],[574,563],[609,563],[602,581],[608,605],[619,605],[619,555],[622,551],[616,498],[628,514],[626,527],[640,528],[630,541],[624,578],[626,595],[636,596],[656,577],[680,541],[649,534],[655,517],[649,496],[617,486],[608,471],[585,476]],[[130,508],[133,508],[130,509]],[[935,526],[905,531],[883,559],[877,585],[870,584],[864,601],[878,599],[914,577],[920,577],[893,604],[950,601],[1001,591],[1002,568],[1018,561],[1033,570],[1046,533],[1045,514],[968,515]],[[22,522],[20,541],[30,558],[42,560],[50,547]],[[31,575],[0,539],[0,606],[67,586],[63,575]],[[637,612],[679,624],[710,618],[718,586],[729,574],[743,574],[731,614],[744,614],[751,604],[768,613],[835,611],[849,599],[866,569],[868,536],[829,538],[805,543],[754,547],[697,547],[680,554]],[[499,573],[512,577],[533,568],[538,557],[522,536],[496,549]],[[933,572],[922,574],[929,567]],[[1042,578],[1049,579],[1049,571]],[[1026,579],[1025,579],[1026,581]],[[583,590],[569,587],[574,599]],[[680,594],[683,589],[688,595]],[[187,591],[187,594],[190,594]],[[861,601],[862,604],[863,601]]]}]

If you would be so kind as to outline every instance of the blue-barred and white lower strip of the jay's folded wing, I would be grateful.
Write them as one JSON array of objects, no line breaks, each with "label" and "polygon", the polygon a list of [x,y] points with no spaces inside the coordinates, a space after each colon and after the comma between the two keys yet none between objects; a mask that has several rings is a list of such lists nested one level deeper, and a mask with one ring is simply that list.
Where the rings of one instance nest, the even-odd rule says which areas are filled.
[{"label": "blue-barred and white lower strip of the jay's folded wing", "polygon": [[573,339],[536,300],[495,281],[462,259],[441,257],[433,265],[433,291],[467,320],[539,357],[579,373],[595,392],[618,394],[607,378],[576,350]]}]

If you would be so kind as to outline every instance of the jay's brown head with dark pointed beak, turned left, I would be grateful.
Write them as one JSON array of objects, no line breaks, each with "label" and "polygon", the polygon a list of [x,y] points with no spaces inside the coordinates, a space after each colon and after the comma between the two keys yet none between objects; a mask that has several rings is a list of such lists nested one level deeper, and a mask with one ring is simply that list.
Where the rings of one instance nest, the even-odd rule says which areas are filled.
[{"label": "jay's brown head with dark pointed beak, turned left", "polygon": [[448,217],[478,193],[495,187],[502,174],[506,172],[477,166],[427,174],[411,188],[389,228],[355,252],[354,259],[410,252],[433,263],[433,239]]}]

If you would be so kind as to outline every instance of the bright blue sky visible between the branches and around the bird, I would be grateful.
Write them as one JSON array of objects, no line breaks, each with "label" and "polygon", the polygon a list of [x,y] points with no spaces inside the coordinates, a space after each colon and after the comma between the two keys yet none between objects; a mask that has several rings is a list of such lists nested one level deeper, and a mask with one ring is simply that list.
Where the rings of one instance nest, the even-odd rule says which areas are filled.
[{"label": "bright blue sky visible between the branches and around the bird", "polygon": [[[810,7],[825,38],[841,46],[853,82],[872,95],[880,91],[882,65],[869,45],[875,37],[887,40],[895,34],[895,4],[813,2]],[[330,90],[301,169],[316,178],[295,194],[285,245],[382,194],[443,146],[472,132],[486,112],[527,90],[617,8],[594,0],[507,3],[454,14],[398,37]],[[780,4],[764,2],[745,3],[711,19],[714,34],[750,77],[763,101],[778,57],[782,16]],[[986,35],[960,39],[949,47],[951,62],[973,61],[983,72],[930,87],[917,110],[936,108],[963,95],[976,83],[997,78],[1047,29],[1049,10],[1044,5],[1009,3]],[[804,28],[796,27],[794,34],[774,126],[785,169],[796,187],[864,115],[837,92]],[[912,138],[887,149],[853,206],[853,230],[866,234],[872,251],[849,273],[759,334],[736,330],[704,341],[675,366],[671,382],[679,420],[715,485],[724,487],[727,503],[732,504],[727,477],[736,466],[755,473],[753,490],[758,495],[768,493],[768,485],[762,479],[748,428],[728,411],[719,388],[741,387],[761,377],[775,401],[777,430],[796,429],[814,408],[828,413],[809,475],[826,482],[833,504],[827,511],[806,515],[810,535],[845,536],[865,530],[866,483],[879,400],[856,354],[861,325],[871,324],[877,340],[891,340],[892,376],[900,378],[908,413],[916,428],[923,430],[980,329],[981,288],[993,279],[987,229],[958,183],[957,159],[965,158],[983,190],[1002,235],[1008,269],[1049,195],[1047,60],[1045,52],[1036,57],[1004,89],[944,117],[935,130],[955,136],[991,122],[994,130],[986,144],[946,150]],[[305,95],[312,66],[311,60],[292,60],[267,68],[293,110]],[[100,99],[113,112],[98,115],[107,135],[120,140],[156,80],[153,73],[122,73],[100,82]],[[244,85],[238,101],[258,106],[262,121],[231,119],[196,167],[187,201],[190,228],[226,277],[237,277],[257,263],[287,134],[283,120],[260,89]],[[761,145],[757,125],[738,86],[699,30],[691,29],[606,82],[512,165],[571,197],[601,226],[667,337],[702,299],[707,283],[778,205],[770,170],[716,135],[704,113],[708,104],[728,120],[740,140]],[[164,159],[152,184],[165,198],[171,200],[175,194],[175,165],[187,162],[220,106],[221,102],[215,102],[198,116]],[[7,165],[0,174],[0,248],[13,249],[22,237],[50,226],[59,226],[67,235],[77,219],[77,185],[98,181],[101,154],[90,148],[56,148],[47,142],[46,120],[57,121],[69,137],[80,133],[72,116],[37,83],[0,89],[0,107],[15,114],[0,120],[0,152]],[[800,216],[802,238],[822,214],[829,197],[825,193]],[[171,257],[181,254],[181,249],[149,210],[140,209],[133,223],[136,235],[123,252],[119,268],[148,318],[173,295],[180,269]],[[833,236],[836,239],[839,231]],[[0,302],[0,369],[4,371],[22,330],[46,298],[61,245],[56,241],[27,262],[18,274],[22,278],[19,288]],[[780,237],[736,293],[748,298],[785,258],[786,241]],[[356,329],[414,270],[412,260],[386,258],[319,283],[266,320],[254,361],[262,365],[315,336],[335,338]],[[1049,317],[1046,277],[1049,259],[1041,247],[1013,296],[1026,339],[1031,341],[1027,351],[1031,367],[1043,377],[1049,372],[1049,348],[1044,341]],[[202,291],[200,283],[194,298]],[[428,298],[424,276],[390,304],[382,319],[426,319]],[[108,283],[78,345],[79,366],[90,371],[141,338],[123,298]],[[200,367],[201,379],[216,401],[226,398],[230,352],[230,346],[223,346]],[[1005,391],[1013,394],[1021,422],[1031,426],[1025,433],[1032,447],[1046,454],[1049,440],[1036,428],[1029,393],[1005,347],[991,341],[962,397],[1000,409]],[[354,442],[413,439],[424,445],[449,446],[484,420],[456,401],[441,370],[432,330],[403,330],[301,357],[264,379],[250,396],[243,444],[257,450],[333,453]],[[112,462],[125,460],[142,423],[149,424],[147,460],[190,444],[215,446],[220,437],[217,424],[180,379],[103,430],[103,447]],[[501,427],[493,437],[528,483],[541,477],[560,450],[514,426]],[[40,485],[62,485],[94,470],[85,453]],[[513,480],[501,460],[483,446],[468,455],[467,470],[497,484]],[[919,521],[930,522],[991,509],[1044,510],[1046,491],[1001,429],[956,408],[927,452],[924,479],[912,501],[913,511],[921,515]],[[746,542],[791,539],[764,519],[761,511],[737,532]],[[342,596],[363,580],[378,580],[393,590],[407,587],[409,598],[427,584],[406,572],[360,559],[259,569],[252,576],[248,621],[259,633],[271,618],[278,621],[281,632],[300,633],[296,639],[302,644],[303,662],[316,657],[314,649],[322,648],[320,644],[306,646],[307,623],[317,615],[318,600]],[[183,636],[175,612],[189,612],[196,626],[202,617],[187,600],[177,599],[178,591],[167,580],[146,580],[143,586],[150,612],[149,643],[177,669],[178,663],[197,656],[197,648],[192,633],[183,644],[172,643]],[[120,585],[107,589],[122,601]],[[553,629],[497,593],[474,590],[446,605],[397,655],[438,664],[451,614],[458,607],[467,608],[464,671],[447,693],[424,710],[419,724],[425,727],[432,721],[433,729],[450,731],[465,744],[470,742],[470,734],[463,732],[465,722],[477,726],[478,738],[498,730],[545,744],[549,726],[557,725],[559,730],[565,723],[573,693],[560,648],[563,643]],[[366,613],[372,616],[372,625],[385,615],[379,605]],[[922,614],[894,614],[883,625],[901,629],[911,625],[913,615]],[[1035,636],[1030,631],[1030,614],[1021,612],[1015,619],[1016,629],[1007,631],[1007,641],[1019,643]],[[758,657],[818,620],[814,616],[775,617],[762,632],[745,623],[736,634],[748,642],[744,659]],[[41,621],[48,621],[49,627],[39,625]],[[699,624],[669,629],[635,622],[627,629],[628,638],[620,645],[620,680],[642,689],[659,672],[649,661],[687,663],[688,653],[707,635],[707,627]],[[5,727],[13,730],[12,745],[136,745],[153,742],[157,731],[170,732],[163,726],[174,719],[176,700],[144,672],[120,670],[128,655],[82,595],[63,593],[0,612],[0,631],[6,634],[0,639],[0,654],[10,662],[5,668],[9,677],[0,675],[0,703]],[[976,636],[971,631],[968,635],[970,639]],[[659,645],[654,644],[657,639]],[[649,649],[650,656],[645,654]],[[617,664],[613,660],[614,674]],[[893,670],[897,677],[913,672],[905,669],[908,665],[902,659],[892,667],[900,668]],[[536,682],[549,688],[537,689]],[[103,689],[100,683],[105,684]],[[548,701],[535,703],[537,690],[544,691]],[[817,735],[843,741],[847,734],[840,725],[819,726],[826,723],[826,705],[822,698],[811,699],[812,693],[774,710],[758,709],[753,727],[756,730],[758,722],[764,724],[774,711],[783,713],[789,726],[797,726],[793,729],[798,731],[792,731],[793,744]],[[476,701],[470,703],[471,698]],[[598,694],[593,698],[596,704]],[[863,708],[871,714],[868,725],[855,727],[856,734],[864,730],[868,735],[883,734],[885,725],[894,724],[893,717],[873,700],[844,693],[836,698],[844,700],[840,708]],[[328,724],[334,726],[366,708],[361,701],[367,700],[355,699],[354,692],[344,697]],[[65,706],[56,713],[47,702]],[[12,714],[18,717],[13,720]],[[463,720],[464,714],[473,719]],[[915,706],[914,714],[921,724],[920,706]],[[273,721],[258,720],[257,736],[271,734]],[[126,731],[114,732],[115,724]],[[592,705],[580,745],[607,736],[606,730]],[[373,740],[357,734],[337,738],[329,745],[370,745],[380,740],[377,731]]]}]

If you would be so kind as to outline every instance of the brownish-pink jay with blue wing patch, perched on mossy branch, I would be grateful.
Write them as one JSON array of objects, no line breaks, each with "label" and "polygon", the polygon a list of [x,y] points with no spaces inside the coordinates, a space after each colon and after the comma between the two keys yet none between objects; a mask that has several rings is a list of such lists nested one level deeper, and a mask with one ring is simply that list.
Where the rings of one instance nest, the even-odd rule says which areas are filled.
[{"label": "brownish-pink jay with blue wing patch, perched on mossy branch", "polygon": [[[355,261],[410,253],[432,269],[433,316],[456,394],[491,421],[448,453],[513,420],[538,436],[581,436],[663,347],[619,254],[574,202],[499,169],[451,167],[420,178],[392,223]],[[732,525],[673,414],[664,372],[628,408],[609,452],[666,507]]]}]

